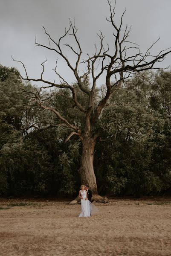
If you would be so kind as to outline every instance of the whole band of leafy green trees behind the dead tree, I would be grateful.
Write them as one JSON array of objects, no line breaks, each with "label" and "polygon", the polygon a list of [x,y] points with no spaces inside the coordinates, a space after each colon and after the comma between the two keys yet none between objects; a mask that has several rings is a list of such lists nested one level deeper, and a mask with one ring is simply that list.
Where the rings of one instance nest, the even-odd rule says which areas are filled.
[{"label": "whole band of leafy green trees behind the dead tree", "polygon": [[[83,83],[88,90],[88,78]],[[77,84],[73,87],[86,108],[87,94]],[[27,93],[37,90],[29,81],[21,81],[15,68],[0,66],[0,195],[76,195],[81,140],[76,135],[67,140],[69,128],[58,125],[52,111],[38,108]],[[105,86],[96,87],[95,106],[105,94]],[[42,100],[68,122],[84,127],[83,115],[70,96],[68,88],[55,88],[43,92]],[[170,109],[170,71],[135,73],[108,99],[95,127],[99,194],[170,192]]]}]

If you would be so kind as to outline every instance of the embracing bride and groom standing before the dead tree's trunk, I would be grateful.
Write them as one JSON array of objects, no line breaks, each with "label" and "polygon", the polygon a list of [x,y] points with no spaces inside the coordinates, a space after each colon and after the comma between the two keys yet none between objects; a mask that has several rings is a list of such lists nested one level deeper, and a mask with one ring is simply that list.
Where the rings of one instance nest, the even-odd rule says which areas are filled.
[{"label": "embracing bride and groom standing before the dead tree's trunk", "polygon": [[99,210],[92,204],[92,192],[88,185],[81,185],[79,198],[81,198],[81,213],[79,217],[90,217]]}]

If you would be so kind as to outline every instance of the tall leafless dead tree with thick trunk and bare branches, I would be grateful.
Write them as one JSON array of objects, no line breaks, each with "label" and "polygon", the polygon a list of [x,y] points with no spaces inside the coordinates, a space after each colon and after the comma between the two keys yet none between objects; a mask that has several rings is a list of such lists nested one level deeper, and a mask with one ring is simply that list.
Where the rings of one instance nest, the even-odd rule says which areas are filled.
[{"label": "tall leafless dead tree with thick trunk and bare branches", "polygon": [[[130,34],[130,28],[128,28],[128,25],[126,25],[126,28],[122,30],[122,19],[125,14],[125,11],[122,14],[122,17],[120,19],[119,26],[116,25],[114,21],[115,17],[115,9],[116,9],[116,1],[114,3],[114,6],[112,7],[111,2],[108,1],[109,4],[109,10],[110,10],[110,18],[106,18],[106,20],[110,23],[112,29],[113,29],[113,36],[114,36],[114,50],[111,53],[111,50],[109,49],[109,45],[106,44],[104,46],[104,36],[100,32],[98,34],[99,36],[99,47],[95,45],[95,53],[93,55],[87,54],[87,59],[82,60],[82,48],[81,44],[77,37],[78,29],[75,27],[75,20],[72,22],[69,20],[69,28],[65,29],[65,33],[63,36],[59,38],[58,41],[55,41],[51,35],[49,35],[48,32],[46,32],[46,29],[43,27],[45,34],[48,37],[49,44],[43,45],[35,41],[35,44],[40,47],[44,47],[46,49],[49,49],[50,51],[53,51],[56,55],[61,56],[63,60],[66,62],[70,70],[72,70],[75,79],[77,81],[79,90],[87,94],[88,104],[87,108],[81,105],[81,103],[78,101],[77,93],[75,91],[75,88],[67,82],[67,79],[62,77],[58,71],[57,71],[57,64],[54,69],[56,75],[60,79],[60,84],[56,84],[54,82],[46,81],[43,79],[43,73],[44,73],[44,62],[41,64],[43,67],[43,71],[41,73],[41,77],[38,79],[29,78],[26,67],[21,61],[18,61],[23,64],[26,77],[23,77],[20,75],[21,79],[27,80],[27,81],[41,81],[45,85],[40,87],[38,93],[33,93],[27,91],[27,93],[30,93],[32,95],[32,99],[34,99],[34,102],[36,104],[44,109],[49,110],[55,113],[55,115],[60,119],[62,122],[61,125],[67,126],[71,129],[70,135],[67,137],[66,142],[70,140],[70,138],[73,135],[76,135],[82,142],[82,156],[81,156],[81,166],[79,169],[79,174],[81,177],[81,184],[89,184],[90,189],[93,191],[93,199],[96,201],[103,201],[103,198],[98,195],[97,185],[96,185],[96,177],[94,174],[93,169],[93,156],[94,156],[94,148],[96,145],[96,140],[99,137],[99,133],[95,132],[95,125],[96,121],[99,119],[99,116],[101,114],[102,109],[106,105],[108,99],[110,98],[113,93],[118,90],[118,88],[121,86],[121,84],[125,81],[125,79],[128,79],[131,74],[135,72],[140,72],[143,70],[149,70],[149,69],[157,69],[157,67],[154,67],[154,64],[157,62],[161,62],[168,53],[171,52],[170,48],[161,50],[157,55],[151,55],[150,50],[154,46],[154,44],[159,40],[157,40],[154,44],[149,47],[149,49],[143,54],[140,52],[139,46],[133,42],[128,41],[128,36]],[[71,61],[69,58],[66,57],[62,46],[61,41],[62,39],[66,38],[67,35],[70,35],[75,40],[75,46],[72,46],[70,44],[65,44],[65,46],[69,47],[69,49],[72,51],[72,53],[76,56],[75,65],[73,66],[71,64]],[[53,47],[51,46],[53,45]],[[78,51],[75,50],[75,48],[78,47]],[[130,51],[136,51],[135,54],[129,55]],[[109,53],[110,52],[110,53]],[[80,73],[79,68],[81,63],[86,64],[86,70],[84,73]],[[105,73],[105,85],[106,85],[106,93],[105,96],[99,101],[99,104],[97,107],[94,107],[94,96],[95,96],[95,89],[96,89],[96,82],[99,79],[99,77]],[[86,77],[90,77],[92,79],[92,86],[90,88],[87,88],[84,86],[84,79]],[[81,111],[82,114],[85,117],[85,126],[84,129],[80,129],[78,126],[75,126],[71,122],[68,122],[66,118],[61,116],[61,114],[53,107],[49,107],[44,104],[44,102],[41,100],[41,91],[42,89],[46,89],[49,87],[58,87],[58,88],[68,88],[70,92],[72,93],[72,102],[74,103],[75,107],[78,109],[78,111]],[[54,124],[55,126],[55,124]],[[58,126],[58,125],[56,125]],[[77,202],[79,199],[77,198]]]}]

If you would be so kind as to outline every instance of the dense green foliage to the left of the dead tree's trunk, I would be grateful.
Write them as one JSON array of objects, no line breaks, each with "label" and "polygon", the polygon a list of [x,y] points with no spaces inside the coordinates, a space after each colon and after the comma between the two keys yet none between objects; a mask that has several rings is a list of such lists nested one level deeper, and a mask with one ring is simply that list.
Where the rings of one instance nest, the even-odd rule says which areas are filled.
[{"label": "dense green foliage to the left of the dead tree's trunk", "polygon": [[64,145],[68,131],[25,131],[23,128],[32,123],[44,128],[54,116],[29,105],[23,89],[34,91],[35,87],[22,84],[9,68],[3,70],[6,76],[0,82],[0,195],[75,192],[79,142],[74,142],[68,151],[68,145]]}]

